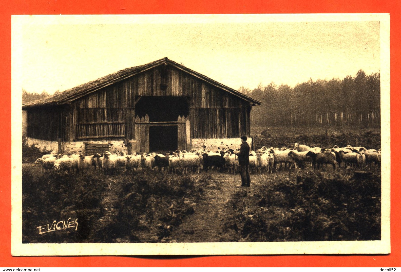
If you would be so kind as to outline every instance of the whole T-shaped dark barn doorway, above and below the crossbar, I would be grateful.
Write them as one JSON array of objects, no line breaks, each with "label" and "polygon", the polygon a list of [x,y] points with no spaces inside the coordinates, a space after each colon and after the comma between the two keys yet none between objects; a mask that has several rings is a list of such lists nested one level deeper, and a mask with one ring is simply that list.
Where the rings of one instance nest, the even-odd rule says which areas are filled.
[{"label": "whole T-shaped dark barn doorway, above and below the crossbar", "polygon": [[149,152],[178,149],[177,119],[188,114],[186,97],[141,97],[135,105],[135,115],[149,117]]}]

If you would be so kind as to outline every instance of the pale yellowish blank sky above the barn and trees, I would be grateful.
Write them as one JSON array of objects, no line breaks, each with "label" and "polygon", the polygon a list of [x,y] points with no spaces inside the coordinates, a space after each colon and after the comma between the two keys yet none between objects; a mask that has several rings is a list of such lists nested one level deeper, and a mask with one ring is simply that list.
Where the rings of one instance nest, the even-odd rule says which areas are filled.
[{"label": "pale yellowish blank sky above the barn and trees", "polygon": [[380,23],[364,18],[18,16],[13,75],[51,94],[164,57],[236,90],[370,75],[380,71]]}]

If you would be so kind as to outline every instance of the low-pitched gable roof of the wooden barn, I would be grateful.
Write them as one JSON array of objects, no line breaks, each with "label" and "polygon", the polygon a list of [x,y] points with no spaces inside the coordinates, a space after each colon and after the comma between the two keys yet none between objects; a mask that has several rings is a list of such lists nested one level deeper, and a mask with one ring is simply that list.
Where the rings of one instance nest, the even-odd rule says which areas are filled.
[{"label": "low-pitched gable roof of the wooden barn", "polygon": [[224,91],[227,91],[228,93],[231,93],[249,103],[252,103],[252,105],[260,105],[261,104],[261,102],[255,100],[251,97],[248,97],[247,95],[244,95],[244,94],[240,93],[239,91],[236,91],[230,87],[227,87],[217,81],[214,81],[213,79],[210,79],[209,77],[206,77],[198,72],[195,72],[181,64],[178,64],[177,62],[169,60],[168,58],[162,58],[160,60],[155,60],[153,62],[144,64],[144,65],[134,66],[134,67],[130,67],[130,68],[126,68],[126,69],[117,71],[115,73],[101,77],[94,81],[89,81],[88,83],[84,83],[77,87],[73,87],[73,88],[63,91],[61,93],[57,93],[57,94],[50,95],[50,96],[42,98],[42,99],[37,99],[35,101],[30,101],[28,103],[24,103],[24,104],[22,104],[22,109],[26,110],[26,109],[30,109],[33,107],[63,105],[63,104],[71,103],[71,101],[79,99],[80,97],[83,97],[89,93],[93,93],[103,87],[106,87],[113,83],[117,83],[119,81],[127,79],[128,77],[132,77],[133,75],[142,73],[146,70],[152,69],[152,68],[162,65],[162,64],[170,64],[170,65],[176,67],[177,69],[180,69],[194,77],[197,77],[199,79],[202,79],[203,81],[206,81],[207,83],[209,83],[211,85],[214,85],[215,87],[223,89]]}]

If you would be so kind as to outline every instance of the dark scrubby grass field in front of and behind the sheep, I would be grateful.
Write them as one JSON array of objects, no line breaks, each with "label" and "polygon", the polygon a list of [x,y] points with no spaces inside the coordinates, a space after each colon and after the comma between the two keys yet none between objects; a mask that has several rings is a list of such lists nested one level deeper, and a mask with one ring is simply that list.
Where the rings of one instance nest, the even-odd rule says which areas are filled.
[{"label": "dark scrubby grass field in front of and behind the sheep", "polygon": [[[256,129],[253,129],[255,132]],[[380,147],[378,130],[259,129],[255,148]],[[41,173],[37,149],[22,149],[22,242],[273,242],[380,240],[381,173],[331,165],[251,175],[209,171],[117,176]],[[366,171],[365,178],[354,177]],[[75,221],[76,220],[76,223]],[[68,222],[74,221],[70,228]],[[54,223],[55,222],[55,223]],[[55,228],[55,224],[62,228]],[[49,224],[49,225],[48,225]],[[63,226],[66,226],[65,228]],[[48,230],[52,230],[49,231]],[[39,232],[43,232],[39,234]]]}]

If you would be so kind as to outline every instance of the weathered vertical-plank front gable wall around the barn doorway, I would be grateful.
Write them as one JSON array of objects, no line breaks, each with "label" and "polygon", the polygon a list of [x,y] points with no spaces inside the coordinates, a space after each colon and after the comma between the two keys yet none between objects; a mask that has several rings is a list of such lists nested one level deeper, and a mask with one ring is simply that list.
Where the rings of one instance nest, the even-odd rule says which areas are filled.
[{"label": "weathered vertical-plank front gable wall around the barn doorway", "polygon": [[68,119],[71,126],[67,124],[67,136],[134,139],[135,101],[139,96],[188,97],[192,138],[249,135],[249,103],[184,71],[163,65],[80,98],[76,103],[77,117]]}]

